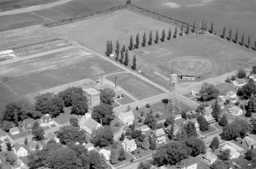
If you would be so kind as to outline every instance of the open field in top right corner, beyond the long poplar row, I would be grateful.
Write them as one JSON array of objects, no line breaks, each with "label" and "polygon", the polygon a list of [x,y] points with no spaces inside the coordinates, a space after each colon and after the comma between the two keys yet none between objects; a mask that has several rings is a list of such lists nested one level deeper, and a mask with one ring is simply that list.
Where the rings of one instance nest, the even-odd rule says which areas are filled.
[{"label": "open field in top right corner, beyond the long poplar row", "polygon": [[222,34],[223,27],[226,26],[228,31],[232,27],[233,38],[236,29],[240,38],[243,32],[246,37],[251,34],[251,39],[256,38],[255,0],[134,0],[132,4],[191,25],[194,21],[199,24],[203,19],[208,20],[207,30],[214,21],[214,30],[217,30],[218,35]]}]

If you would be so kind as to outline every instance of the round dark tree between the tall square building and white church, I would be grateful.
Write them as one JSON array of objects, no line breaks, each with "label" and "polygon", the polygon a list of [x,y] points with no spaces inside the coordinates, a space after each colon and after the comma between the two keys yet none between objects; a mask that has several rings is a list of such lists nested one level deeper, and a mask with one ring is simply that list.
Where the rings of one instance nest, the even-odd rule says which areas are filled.
[{"label": "round dark tree between the tall square building and white church", "polygon": [[113,118],[113,107],[109,104],[98,104],[92,109],[91,118],[102,125],[110,125]]}]

